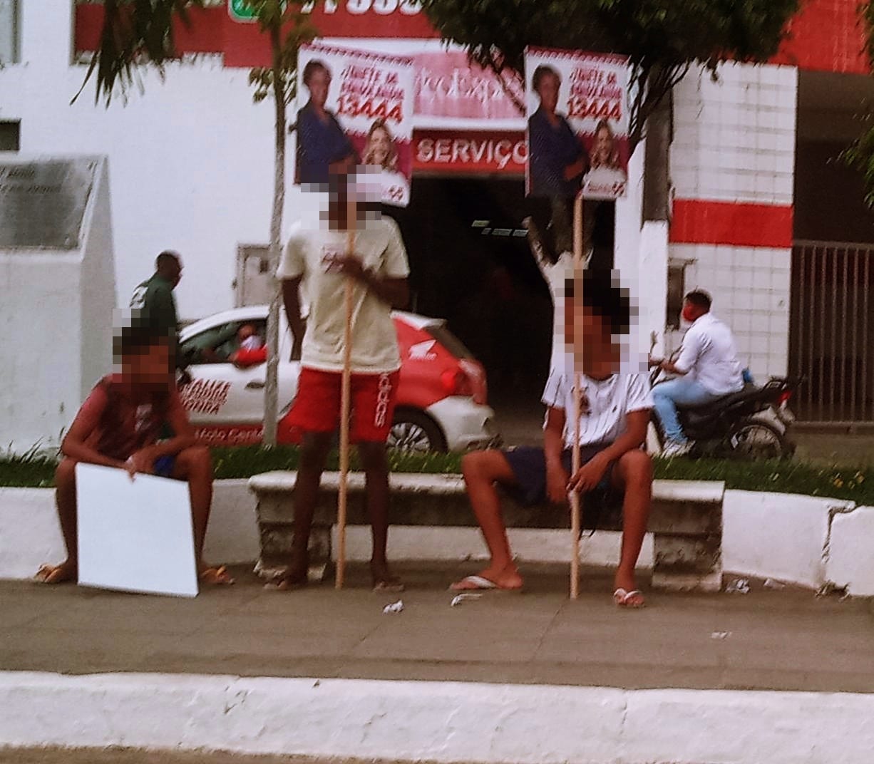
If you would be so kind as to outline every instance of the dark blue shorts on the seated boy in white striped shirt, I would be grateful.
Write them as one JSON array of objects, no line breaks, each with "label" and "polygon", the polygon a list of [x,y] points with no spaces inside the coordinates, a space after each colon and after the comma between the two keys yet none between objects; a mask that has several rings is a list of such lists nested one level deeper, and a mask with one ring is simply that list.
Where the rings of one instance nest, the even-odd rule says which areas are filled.
[{"label": "dark blue shorts on the seated boy in white striped shirt", "polygon": [[[579,449],[579,463],[586,464],[593,456],[599,454],[610,443],[593,443],[589,446],[582,446]],[[510,464],[510,469],[513,470],[513,476],[516,478],[515,483],[504,485],[503,489],[512,497],[518,504],[524,507],[531,507],[537,504],[545,504],[546,497],[546,456],[543,448],[534,446],[519,446],[517,448],[509,448],[501,452],[504,458]],[[571,474],[573,452],[567,448],[561,452],[561,462],[568,475]],[[600,479],[600,483],[593,490],[587,491],[586,496],[592,500],[587,501],[584,505],[584,524],[587,528],[594,528],[598,525],[602,511],[608,510],[611,515],[612,523],[617,522],[621,518],[623,492],[617,489],[613,484],[613,468],[616,462],[610,462],[607,471]],[[607,517],[605,516],[605,520]]]}]

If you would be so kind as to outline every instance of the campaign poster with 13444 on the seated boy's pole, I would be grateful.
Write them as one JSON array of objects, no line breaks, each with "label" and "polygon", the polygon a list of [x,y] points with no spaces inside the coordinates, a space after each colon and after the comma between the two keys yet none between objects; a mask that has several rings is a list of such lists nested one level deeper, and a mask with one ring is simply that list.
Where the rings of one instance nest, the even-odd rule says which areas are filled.
[{"label": "campaign poster with 13444 on the seated boy's pole", "polygon": [[628,59],[525,49],[526,191],[616,199],[628,186]]}]

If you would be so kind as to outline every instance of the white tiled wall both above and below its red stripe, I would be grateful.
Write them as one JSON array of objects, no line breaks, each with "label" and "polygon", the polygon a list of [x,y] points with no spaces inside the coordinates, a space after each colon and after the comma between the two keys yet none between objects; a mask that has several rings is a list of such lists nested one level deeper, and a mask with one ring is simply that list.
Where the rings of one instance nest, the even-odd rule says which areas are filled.
[{"label": "white tiled wall both above and below its red stripe", "polygon": [[[791,206],[797,88],[790,66],[729,64],[716,81],[690,73],[675,94],[676,199]],[[785,374],[791,250],[675,243],[670,256],[690,262],[687,290],[711,292],[753,375]]]}]

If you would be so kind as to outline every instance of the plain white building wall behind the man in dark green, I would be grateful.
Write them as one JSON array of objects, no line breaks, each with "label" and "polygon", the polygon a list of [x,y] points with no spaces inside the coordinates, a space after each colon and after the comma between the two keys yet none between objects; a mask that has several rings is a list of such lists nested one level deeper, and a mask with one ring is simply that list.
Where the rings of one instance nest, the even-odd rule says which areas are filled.
[{"label": "plain white building wall behind the man in dark green", "polygon": [[[22,10],[21,63],[0,70],[0,120],[21,120],[28,155],[108,155],[116,301],[127,304],[170,248],[184,261],[180,316],[230,308],[237,246],[267,243],[273,198],[274,110],[253,104],[248,69],[204,57],[168,66],[163,81],[144,71],[127,104],[95,104],[89,82],[71,105],[87,71],[70,64],[73,3],[24,0]],[[287,226],[300,205],[289,184]]]}]

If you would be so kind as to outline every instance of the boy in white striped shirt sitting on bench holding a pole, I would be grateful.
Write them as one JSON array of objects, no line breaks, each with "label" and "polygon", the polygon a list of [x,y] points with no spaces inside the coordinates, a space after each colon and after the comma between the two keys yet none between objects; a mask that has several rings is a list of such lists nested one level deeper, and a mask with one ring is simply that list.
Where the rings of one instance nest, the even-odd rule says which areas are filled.
[{"label": "boy in white striped shirt sitting on bench holding a pole", "polygon": [[[454,591],[518,590],[522,576],[513,562],[503,524],[501,486],[520,504],[568,504],[568,494],[592,494],[592,502],[621,503],[622,548],[614,602],[641,608],[635,565],[647,530],[652,462],[642,450],[653,406],[649,379],[621,373],[631,308],[610,271],[585,271],[583,294],[565,281],[564,368],[553,367],[543,402],[547,406],[543,448],[477,451],[462,462],[470,504],[489,547],[489,566],[452,585]],[[579,446],[582,467],[571,475],[575,427],[574,379],[580,380]]]}]

